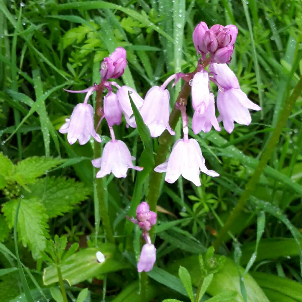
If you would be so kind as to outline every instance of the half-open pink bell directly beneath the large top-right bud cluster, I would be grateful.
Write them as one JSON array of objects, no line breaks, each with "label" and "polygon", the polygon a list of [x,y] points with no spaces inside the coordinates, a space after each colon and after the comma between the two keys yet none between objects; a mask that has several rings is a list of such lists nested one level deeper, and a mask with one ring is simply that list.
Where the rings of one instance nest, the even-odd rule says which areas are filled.
[{"label": "half-open pink bell directly beneath the large top-right bud cluster", "polygon": [[222,88],[239,88],[239,82],[235,73],[226,64],[210,64],[209,70],[213,73],[214,80]]}]

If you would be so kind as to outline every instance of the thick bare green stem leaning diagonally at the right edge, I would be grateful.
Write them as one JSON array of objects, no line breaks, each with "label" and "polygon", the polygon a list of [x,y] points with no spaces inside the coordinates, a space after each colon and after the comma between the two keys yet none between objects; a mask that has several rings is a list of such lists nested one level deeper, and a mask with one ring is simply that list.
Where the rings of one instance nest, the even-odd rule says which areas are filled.
[{"label": "thick bare green stem leaning diagonally at the right edge", "polygon": [[225,238],[226,233],[230,230],[230,227],[232,226],[233,222],[240,215],[241,210],[243,209],[246,202],[248,201],[249,195],[255,189],[255,186],[258,183],[260,176],[268,163],[268,160],[271,158],[271,155],[274,152],[275,146],[279,142],[279,137],[281,135],[281,132],[286,125],[288,117],[291,114],[295,102],[301,94],[301,91],[302,91],[302,78],[300,78],[300,81],[298,82],[297,86],[294,88],[294,91],[292,92],[290,97],[285,101],[283,112],[279,117],[276,128],[271,136],[271,139],[268,141],[266,149],[263,152],[261,159],[259,160],[259,163],[254,171],[254,174],[252,175],[249,182],[246,184],[246,187],[242,195],[240,196],[238,203],[236,204],[236,207],[234,207],[229,218],[226,220],[226,223],[224,224],[223,228],[218,233],[218,236],[213,244],[215,251],[218,250],[218,247],[220,246],[220,243]]}]

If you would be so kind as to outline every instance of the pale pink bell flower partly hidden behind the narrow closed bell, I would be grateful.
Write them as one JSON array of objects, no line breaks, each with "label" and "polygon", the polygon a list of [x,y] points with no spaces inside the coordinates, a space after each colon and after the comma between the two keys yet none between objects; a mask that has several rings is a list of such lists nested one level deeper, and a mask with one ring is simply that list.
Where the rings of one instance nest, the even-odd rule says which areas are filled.
[{"label": "pale pink bell flower partly hidden behind the narrow closed bell", "polygon": [[215,101],[213,93],[210,94],[210,103],[207,110],[203,114],[194,112],[192,118],[192,130],[195,134],[198,134],[201,130],[205,133],[212,129],[212,126],[216,131],[220,131],[220,127],[215,115]]}]

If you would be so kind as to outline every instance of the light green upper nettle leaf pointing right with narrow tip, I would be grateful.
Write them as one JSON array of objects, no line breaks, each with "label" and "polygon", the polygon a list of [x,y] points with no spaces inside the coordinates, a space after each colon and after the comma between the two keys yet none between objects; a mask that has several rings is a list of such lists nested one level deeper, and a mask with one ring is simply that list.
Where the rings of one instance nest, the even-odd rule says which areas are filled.
[{"label": "light green upper nettle leaf pointing right with narrow tip", "polygon": [[45,158],[43,156],[28,157],[18,162],[15,166],[15,173],[11,176],[20,185],[31,184],[43,175],[47,170],[63,163],[63,159]]}]

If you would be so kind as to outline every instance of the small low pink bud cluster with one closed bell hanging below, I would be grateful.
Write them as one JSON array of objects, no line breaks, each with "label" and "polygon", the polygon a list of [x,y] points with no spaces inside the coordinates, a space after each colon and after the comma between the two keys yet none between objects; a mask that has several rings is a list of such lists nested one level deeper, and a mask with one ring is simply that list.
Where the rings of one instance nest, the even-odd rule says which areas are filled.
[{"label": "small low pink bud cluster with one closed bell hanging below", "polygon": [[156,248],[151,243],[149,230],[151,227],[156,224],[157,214],[153,211],[150,211],[149,204],[146,201],[143,201],[138,205],[136,210],[136,219],[129,218],[131,222],[138,224],[138,226],[143,230],[143,237],[146,241],[146,244],[143,246],[140,253],[140,259],[137,263],[137,271],[151,271],[156,260]]}]

